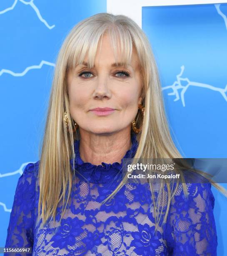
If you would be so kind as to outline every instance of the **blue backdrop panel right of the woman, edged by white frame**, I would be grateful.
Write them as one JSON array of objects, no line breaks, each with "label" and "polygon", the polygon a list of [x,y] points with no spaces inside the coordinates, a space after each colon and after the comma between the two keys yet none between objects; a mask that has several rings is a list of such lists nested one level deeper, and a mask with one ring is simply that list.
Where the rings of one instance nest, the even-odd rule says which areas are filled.
[{"label": "blue backdrop panel right of the woman, edged by white frame", "polygon": [[[142,29],[177,148],[189,158],[227,158],[227,4],[143,7]],[[212,192],[217,255],[227,255],[227,198]]]}]

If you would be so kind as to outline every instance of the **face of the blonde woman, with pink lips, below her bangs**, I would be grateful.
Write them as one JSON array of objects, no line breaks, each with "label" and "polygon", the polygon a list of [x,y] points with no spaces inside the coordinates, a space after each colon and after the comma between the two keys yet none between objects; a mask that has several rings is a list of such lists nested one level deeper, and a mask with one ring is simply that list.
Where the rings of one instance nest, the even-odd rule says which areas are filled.
[{"label": "face of the blonde woman, with pink lips, below her bangs", "polygon": [[[139,61],[135,49],[127,67],[116,67],[109,38],[103,36],[95,56],[95,67],[78,65],[67,75],[70,114],[73,120],[90,133],[115,133],[131,128],[142,97]],[[121,61],[117,53],[117,62]],[[95,108],[111,108],[95,111]]]}]

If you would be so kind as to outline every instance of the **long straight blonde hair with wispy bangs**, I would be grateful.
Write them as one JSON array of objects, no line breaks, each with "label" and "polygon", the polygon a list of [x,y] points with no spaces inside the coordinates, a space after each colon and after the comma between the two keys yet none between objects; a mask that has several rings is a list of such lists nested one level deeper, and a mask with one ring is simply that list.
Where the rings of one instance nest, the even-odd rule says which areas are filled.
[{"label": "long straight blonde hair with wispy bangs", "polygon": [[[44,224],[49,218],[53,217],[55,220],[57,205],[63,199],[62,219],[70,200],[70,191],[75,178],[75,172],[72,172],[70,166],[70,159],[73,160],[73,163],[75,162],[74,140],[79,139],[80,134],[73,132],[73,120],[70,116],[67,94],[67,72],[78,64],[82,64],[86,55],[89,66],[93,67],[98,43],[100,40],[102,41],[102,36],[105,33],[110,36],[115,56],[116,50],[119,49],[122,61],[130,63],[134,46],[140,60],[143,84],[142,105],[145,107],[145,116],[143,121],[139,118],[139,114],[136,117],[137,126],[142,125],[142,132],[137,134],[139,145],[133,163],[136,163],[136,159],[140,158],[182,158],[172,141],[167,125],[157,65],[145,33],[132,19],[124,15],[99,13],[86,18],[72,28],[65,38],[56,61],[39,165],[38,213],[40,216],[42,205],[41,217]],[[65,111],[69,117],[69,131],[65,127]],[[182,173],[181,170],[179,172]],[[187,186],[184,183],[183,175],[181,177],[183,191],[187,197]],[[102,203],[112,198],[126,181],[127,177],[125,176],[115,191]],[[211,181],[211,183],[227,196],[225,188],[215,182]],[[161,201],[163,202],[164,185],[167,186],[165,222],[170,200],[177,190],[178,183],[176,189],[172,191],[170,184],[168,182],[165,184],[165,180],[163,180],[158,200],[155,202],[152,181],[149,181],[155,207],[156,224],[160,221],[159,215],[156,213],[159,212],[160,215],[162,213],[157,209],[159,209]]]}]

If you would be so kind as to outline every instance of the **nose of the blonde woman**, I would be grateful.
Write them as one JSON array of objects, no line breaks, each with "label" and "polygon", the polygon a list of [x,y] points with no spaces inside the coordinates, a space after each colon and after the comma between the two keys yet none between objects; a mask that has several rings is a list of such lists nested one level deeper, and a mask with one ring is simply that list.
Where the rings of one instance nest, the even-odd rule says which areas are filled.
[{"label": "nose of the blonde woman", "polygon": [[109,88],[109,80],[107,75],[99,76],[96,80],[95,90],[93,92],[93,98],[101,100],[104,97],[110,98],[111,92]]}]

